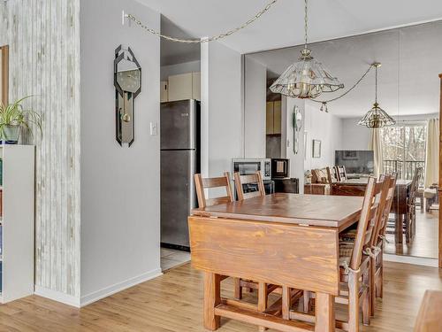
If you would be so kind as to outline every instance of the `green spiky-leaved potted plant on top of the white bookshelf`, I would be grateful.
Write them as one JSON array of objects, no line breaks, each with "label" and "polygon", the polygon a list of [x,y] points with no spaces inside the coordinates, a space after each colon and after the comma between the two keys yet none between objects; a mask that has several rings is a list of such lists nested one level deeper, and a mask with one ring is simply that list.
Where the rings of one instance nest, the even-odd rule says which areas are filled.
[{"label": "green spiky-leaved potted plant on top of the white bookshelf", "polygon": [[21,104],[28,97],[21,98],[12,104],[0,104],[0,137],[2,143],[17,144],[22,128],[32,135],[31,125],[35,125],[42,133],[42,118],[39,113],[25,110]]}]

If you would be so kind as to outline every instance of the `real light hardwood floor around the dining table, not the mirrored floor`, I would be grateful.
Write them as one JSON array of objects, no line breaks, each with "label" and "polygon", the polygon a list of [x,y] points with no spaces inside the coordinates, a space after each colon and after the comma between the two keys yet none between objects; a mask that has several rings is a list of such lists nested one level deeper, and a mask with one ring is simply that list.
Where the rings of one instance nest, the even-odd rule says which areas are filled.
[{"label": "real light hardwood floor around the dining table, not the mirrored floor", "polygon": [[[223,293],[232,295],[232,283],[223,285]],[[428,289],[442,290],[438,268],[385,262],[385,298],[377,300],[377,316],[362,331],[412,331]],[[0,331],[204,331],[202,274],[190,264],[179,266],[80,310],[27,297],[0,305]],[[219,331],[255,332],[257,328],[222,320]]]}]

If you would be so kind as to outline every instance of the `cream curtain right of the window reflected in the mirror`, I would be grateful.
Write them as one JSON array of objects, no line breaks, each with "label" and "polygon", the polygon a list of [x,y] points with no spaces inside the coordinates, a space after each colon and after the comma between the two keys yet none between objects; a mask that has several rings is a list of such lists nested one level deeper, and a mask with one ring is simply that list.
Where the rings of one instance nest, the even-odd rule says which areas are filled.
[{"label": "cream curtain right of the window reflected in the mirror", "polygon": [[425,187],[438,183],[439,175],[439,121],[428,120],[427,148],[425,153]]}]

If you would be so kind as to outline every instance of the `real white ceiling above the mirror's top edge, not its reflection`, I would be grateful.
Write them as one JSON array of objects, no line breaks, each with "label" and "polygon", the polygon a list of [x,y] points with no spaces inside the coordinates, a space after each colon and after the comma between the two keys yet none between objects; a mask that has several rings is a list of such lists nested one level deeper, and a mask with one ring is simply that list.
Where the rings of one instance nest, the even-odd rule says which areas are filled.
[{"label": "real white ceiling above the mirror's top edge, not its reflection", "polygon": [[[223,33],[238,27],[270,0],[138,0],[161,12],[187,35]],[[442,19],[440,0],[315,0],[309,2],[312,42]],[[240,53],[298,45],[303,40],[303,1],[278,0],[253,25],[223,43]]]}]

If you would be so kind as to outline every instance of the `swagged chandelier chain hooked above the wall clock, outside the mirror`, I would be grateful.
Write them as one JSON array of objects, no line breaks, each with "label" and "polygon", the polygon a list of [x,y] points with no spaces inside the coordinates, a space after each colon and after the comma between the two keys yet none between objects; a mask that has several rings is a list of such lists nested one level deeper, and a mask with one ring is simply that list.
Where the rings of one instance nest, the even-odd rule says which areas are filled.
[{"label": "swagged chandelier chain hooked above the wall clock, outside the mirror", "polygon": [[[215,41],[223,39],[223,38],[225,38],[225,37],[227,37],[229,35],[233,35],[234,33],[240,31],[241,29],[244,29],[244,28],[248,27],[249,25],[254,23],[255,20],[261,18],[261,16],[263,16],[263,14],[265,12],[268,12],[271,9],[271,6],[273,4],[276,4],[277,2],[278,2],[278,0],[272,0],[269,4],[266,4],[265,7],[261,11],[257,12],[254,17],[252,17],[251,19],[248,19],[248,21],[245,22],[244,24],[240,25],[240,27],[235,27],[232,30],[229,30],[229,31],[225,32],[224,34],[213,35],[211,37],[205,37],[205,38],[202,38],[202,39],[180,39],[180,38],[177,38],[177,37],[172,37],[170,35],[163,35],[161,32],[158,32],[158,31],[154,30],[153,28],[148,27],[145,24],[143,24],[140,19],[137,19],[132,14],[127,14],[127,19],[133,20],[133,22],[137,26],[139,26],[142,29],[146,30],[150,34],[157,35],[160,38],[163,38],[163,39],[171,41],[171,42],[182,42],[182,43],[215,42]],[[307,2],[307,0],[306,0],[306,2]]]}]

